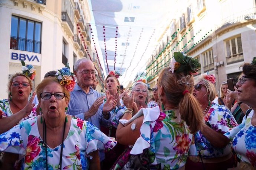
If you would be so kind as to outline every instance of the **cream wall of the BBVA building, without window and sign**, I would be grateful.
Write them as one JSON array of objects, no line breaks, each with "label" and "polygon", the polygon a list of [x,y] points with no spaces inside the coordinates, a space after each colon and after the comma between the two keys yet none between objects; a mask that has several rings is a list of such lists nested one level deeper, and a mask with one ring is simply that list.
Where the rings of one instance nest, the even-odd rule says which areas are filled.
[{"label": "cream wall of the BBVA building, without window and sign", "polygon": [[[78,26],[83,26],[83,36],[88,47],[90,47],[90,38],[85,30],[86,23],[91,20],[91,13],[87,0],[45,0],[45,4],[37,3],[35,0],[0,0],[0,55],[2,56],[0,67],[2,69],[0,84],[0,99],[7,98],[7,84],[9,75],[21,71],[19,59],[13,59],[12,54],[25,54],[29,57],[37,56],[37,60],[28,60],[26,64],[32,64],[36,68],[35,86],[43,79],[48,71],[57,70],[65,65],[62,62],[63,40],[66,45],[66,58],[70,68],[73,71],[74,62],[82,57],[86,57],[81,38],[79,42],[75,40],[74,35],[78,34]],[[70,3],[73,6],[72,24],[70,28],[68,23],[63,20],[63,3]],[[75,8],[78,4],[79,10]],[[76,10],[76,16],[75,16]],[[78,15],[79,13],[79,15]],[[10,49],[10,35],[12,16],[22,17],[28,20],[41,23],[41,53]],[[80,18],[77,18],[80,16]],[[81,20],[83,18],[83,20]],[[80,19],[80,20],[79,20]],[[88,41],[86,39],[88,38]],[[79,45],[80,43],[80,45]],[[89,48],[91,49],[91,48]],[[84,51],[83,51],[84,50]],[[91,50],[89,50],[91,54]],[[76,58],[74,58],[74,55]]]}]

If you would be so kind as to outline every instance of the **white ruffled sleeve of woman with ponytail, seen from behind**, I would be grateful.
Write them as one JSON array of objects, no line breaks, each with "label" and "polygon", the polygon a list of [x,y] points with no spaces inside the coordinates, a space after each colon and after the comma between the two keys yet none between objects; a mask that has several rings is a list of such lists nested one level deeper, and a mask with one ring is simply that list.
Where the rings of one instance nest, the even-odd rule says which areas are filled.
[{"label": "white ruffled sleeve of woman with ponytail, seen from behind", "polygon": [[136,140],[130,154],[141,154],[144,149],[150,147],[151,128],[154,128],[155,122],[160,116],[159,107],[142,108],[144,119],[140,128],[140,137]]}]

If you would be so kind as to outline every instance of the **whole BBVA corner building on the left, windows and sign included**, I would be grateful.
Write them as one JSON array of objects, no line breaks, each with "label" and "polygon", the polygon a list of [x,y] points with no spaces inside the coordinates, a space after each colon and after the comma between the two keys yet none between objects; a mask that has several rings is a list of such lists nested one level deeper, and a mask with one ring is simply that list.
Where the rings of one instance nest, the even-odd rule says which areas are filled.
[{"label": "whole BBVA corner building on the left, windows and sign included", "polygon": [[34,86],[45,73],[92,55],[86,0],[0,1],[0,98],[7,98],[10,75],[21,71],[23,60],[36,68]]}]

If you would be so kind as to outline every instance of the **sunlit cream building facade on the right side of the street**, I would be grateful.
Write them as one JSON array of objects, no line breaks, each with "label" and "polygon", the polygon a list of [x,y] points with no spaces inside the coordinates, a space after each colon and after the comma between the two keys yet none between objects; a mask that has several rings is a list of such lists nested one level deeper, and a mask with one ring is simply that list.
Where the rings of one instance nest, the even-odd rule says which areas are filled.
[{"label": "sunlit cream building facade on the right side of the street", "polygon": [[181,0],[175,5],[177,16],[147,64],[150,86],[175,51],[197,58],[199,74],[214,74],[217,90],[227,78],[237,80],[239,66],[256,56],[255,0]]}]

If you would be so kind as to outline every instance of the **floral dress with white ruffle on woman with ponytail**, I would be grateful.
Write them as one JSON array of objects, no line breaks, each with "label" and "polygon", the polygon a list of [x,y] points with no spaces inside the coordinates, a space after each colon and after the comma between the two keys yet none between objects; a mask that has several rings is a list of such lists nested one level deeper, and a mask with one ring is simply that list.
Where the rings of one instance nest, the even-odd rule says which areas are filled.
[{"label": "floral dress with white ruffle on woman with ponytail", "polygon": [[[160,112],[159,107],[143,110],[141,136],[130,154],[148,148],[152,169],[179,169],[186,163],[192,140],[188,126],[174,110]],[[151,133],[152,132],[152,133]],[[153,153],[153,154],[152,154]]]}]

